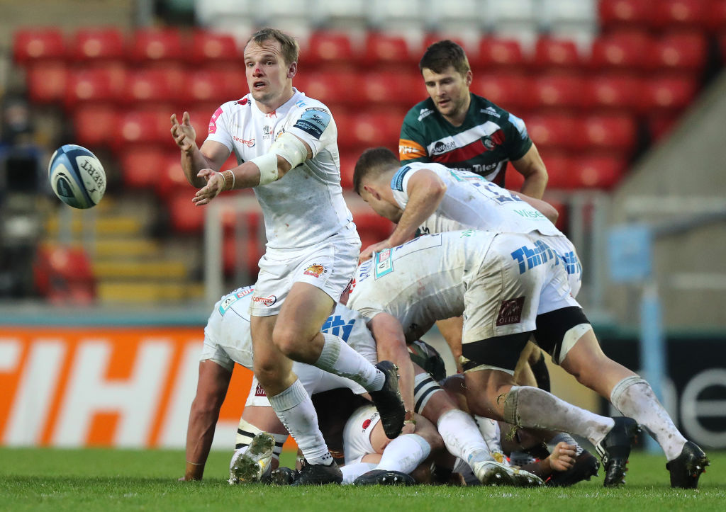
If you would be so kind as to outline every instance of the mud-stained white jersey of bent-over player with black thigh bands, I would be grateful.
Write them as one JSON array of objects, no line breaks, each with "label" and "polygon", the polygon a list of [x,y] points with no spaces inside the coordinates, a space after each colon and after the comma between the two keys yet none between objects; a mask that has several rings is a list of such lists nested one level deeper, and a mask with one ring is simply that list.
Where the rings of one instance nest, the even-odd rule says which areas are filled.
[{"label": "mud-stained white jersey of bent-over player with black thigh bands", "polygon": [[413,342],[437,320],[464,313],[466,286],[494,236],[491,231],[449,231],[376,252],[359,265],[348,307],[367,318],[393,315],[401,321],[406,341]]}]

